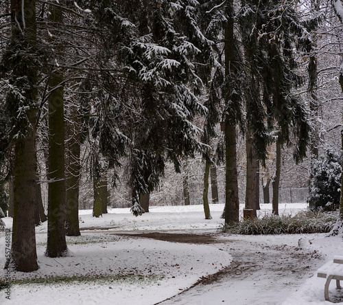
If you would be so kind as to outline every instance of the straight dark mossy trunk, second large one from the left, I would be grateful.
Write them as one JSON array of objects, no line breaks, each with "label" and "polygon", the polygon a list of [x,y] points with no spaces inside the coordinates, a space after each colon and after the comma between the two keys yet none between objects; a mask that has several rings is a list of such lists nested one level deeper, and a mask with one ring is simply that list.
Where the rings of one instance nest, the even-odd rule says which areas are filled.
[{"label": "straight dark mossy trunk, second large one from the left", "polygon": [[[62,8],[49,7],[49,21],[54,26],[62,24]],[[54,30],[51,31],[53,34]],[[58,33],[56,33],[58,35]],[[57,40],[55,40],[56,43]],[[55,42],[54,41],[54,42]],[[49,170],[47,250],[45,255],[56,258],[67,255],[65,240],[66,190],[64,181],[64,88],[63,74],[58,67],[48,80],[49,95]]]}]

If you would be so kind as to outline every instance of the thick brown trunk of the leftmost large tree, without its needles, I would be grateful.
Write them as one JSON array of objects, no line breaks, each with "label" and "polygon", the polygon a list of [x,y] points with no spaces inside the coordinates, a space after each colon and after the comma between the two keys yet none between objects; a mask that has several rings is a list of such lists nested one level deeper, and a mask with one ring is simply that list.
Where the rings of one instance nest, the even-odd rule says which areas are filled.
[{"label": "thick brown trunk of the leftmost large tree, without its needles", "polygon": [[[23,53],[26,49],[36,48],[36,1],[12,0],[12,39],[21,43],[19,48]],[[24,22],[25,21],[25,27]],[[18,45],[17,45],[18,47]],[[32,50],[30,51],[32,52]],[[27,54],[27,57],[34,56]],[[34,61],[34,60],[32,60]],[[34,64],[25,67],[15,67],[14,73],[18,78],[27,78],[29,89],[25,89],[25,102],[29,124],[25,138],[16,140],[13,166],[13,231],[12,252],[10,262],[16,271],[30,272],[37,270],[36,234],[34,211],[36,207],[36,109],[37,101],[37,69]],[[19,64],[20,65],[20,64]]]}]

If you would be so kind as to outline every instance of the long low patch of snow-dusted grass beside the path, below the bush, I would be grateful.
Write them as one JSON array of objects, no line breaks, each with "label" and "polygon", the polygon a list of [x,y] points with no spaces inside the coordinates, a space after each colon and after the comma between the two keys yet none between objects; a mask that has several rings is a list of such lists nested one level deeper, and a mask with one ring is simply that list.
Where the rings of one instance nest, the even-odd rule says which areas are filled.
[{"label": "long low patch of snow-dusted grass beside the path, below the bush", "polygon": [[303,211],[295,216],[268,214],[261,218],[244,219],[220,227],[229,234],[311,234],[331,231],[338,218],[338,212]]}]

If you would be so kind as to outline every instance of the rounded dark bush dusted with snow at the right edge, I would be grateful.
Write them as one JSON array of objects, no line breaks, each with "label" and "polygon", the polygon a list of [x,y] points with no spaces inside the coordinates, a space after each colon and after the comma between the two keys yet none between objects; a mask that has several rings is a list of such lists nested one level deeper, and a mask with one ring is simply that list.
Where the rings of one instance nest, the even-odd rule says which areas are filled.
[{"label": "rounded dark bush dusted with snow at the right edge", "polygon": [[327,149],[311,169],[309,203],[311,209],[334,211],[340,207],[342,153]]}]

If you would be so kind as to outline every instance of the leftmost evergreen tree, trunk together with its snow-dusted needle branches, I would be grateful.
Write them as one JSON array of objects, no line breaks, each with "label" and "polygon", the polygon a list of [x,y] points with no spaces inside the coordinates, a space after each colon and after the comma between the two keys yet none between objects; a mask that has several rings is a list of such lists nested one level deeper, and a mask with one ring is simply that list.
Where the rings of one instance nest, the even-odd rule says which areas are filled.
[{"label": "leftmost evergreen tree, trunk together with its snow-dusted needle branches", "polygon": [[[8,144],[14,144],[14,218],[12,251],[6,263],[17,271],[38,269],[34,212],[36,207],[37,67],[36,1],[11,2],[12,37],[0,62],[4,76]],[[2,145],[2,144],[1,144]],[[1,147],[3,149],[3,147]],[[8,149],[8,147],[5,147]]]}]

